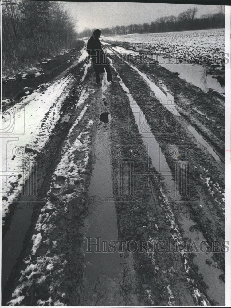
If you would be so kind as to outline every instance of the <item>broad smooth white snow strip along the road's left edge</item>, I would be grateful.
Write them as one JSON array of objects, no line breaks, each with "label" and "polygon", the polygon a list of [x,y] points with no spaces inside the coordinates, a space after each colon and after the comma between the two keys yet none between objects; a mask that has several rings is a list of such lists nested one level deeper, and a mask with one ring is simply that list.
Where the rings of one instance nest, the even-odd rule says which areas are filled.
[{"label": "broad smooth white snow strip along the road's left edge", "polygon": [[[87,52],[82,50],[80,63]],[[89,66],[86,67],[86,70]],[[2,221],[9,205],[20,197],[36,158],[45,154],[45,145],[60,118],[60,109],[69,93],[72,75],[63,76],[42,93],[33,92],[2,113]],[[86,72],[84,77],[86,76]]]}]

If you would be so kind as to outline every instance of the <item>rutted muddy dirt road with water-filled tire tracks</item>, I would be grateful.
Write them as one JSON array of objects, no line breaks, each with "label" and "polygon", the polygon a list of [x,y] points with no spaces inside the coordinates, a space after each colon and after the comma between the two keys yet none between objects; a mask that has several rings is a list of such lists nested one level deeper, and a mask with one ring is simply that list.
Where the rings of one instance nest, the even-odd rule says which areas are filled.
[{"label": "rutted muddy dirt road with water-filled tire tracks", "polygon": [[224,97],[104,48],[114,83],[83,48],[21,99],[47,112],[21,146],[30,194],[10,201],[18,176],[4,198],[2,304],[224,305]]}]

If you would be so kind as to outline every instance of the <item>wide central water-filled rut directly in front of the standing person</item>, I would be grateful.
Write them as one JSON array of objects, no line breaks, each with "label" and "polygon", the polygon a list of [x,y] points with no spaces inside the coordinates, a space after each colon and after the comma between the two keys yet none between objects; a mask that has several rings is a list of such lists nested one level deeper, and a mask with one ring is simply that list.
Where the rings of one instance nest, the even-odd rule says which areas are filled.
[{"label": "wide central water-filled rut directly in front of the standing person", "polygon": [[[102,106],[104,106],[103,101]],[[101,109],[103,108],[102,106],[100,106]],[[105,107],[103,109],[106,111]],[[107,117],[107,119],[109,120],[110,117]],[[88,192],[90,215],[86,219],[86,227],[84,228],[84,279],[87,280],[89,286],[95,286],[100,275],[107,276],[114,281],[117,280],[121,275],[122,269],[122,258],[119,256],[119,249],[113,253],[110,251],[114,251],[114,248],[108,246],[109,241],[118,240],[115,204],[114,202],[109,202],[110,198],[113,197],[113,189],[109,155],[110,133],[108,130],[108,120],[100,122],[98,126],[95,153],[96,163]],[[99,252],[96,252],[96,245],[89,245],[90,243],[96,243],[96,237],[99,238]],[[111,243],[114,246],[114,243]],[[87,252],[90,250],[92,252]]]}]

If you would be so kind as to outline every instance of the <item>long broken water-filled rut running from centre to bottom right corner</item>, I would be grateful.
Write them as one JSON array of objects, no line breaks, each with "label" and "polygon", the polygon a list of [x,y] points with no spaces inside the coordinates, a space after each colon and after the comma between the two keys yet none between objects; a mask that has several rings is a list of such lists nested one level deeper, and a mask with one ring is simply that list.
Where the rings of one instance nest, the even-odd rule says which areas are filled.
[{"label": "long broken water-filled rut running from centre to bottom right corner", "polygon": [[[127,92],[131,110],[133,111],[133,114],[135,116],[136,124],[139,128],[139,132],[142,135],[143,128],[141,128],[140,119],[142,118],[143,122],[145,122],[145,116],[143,115],[139,106],[136,104],[135,100],[132,98],[131,94],[129,93],[128,88],[125,86],[121,78],[120,78],[120,84],[123,90]],[[174,201],[176,202],[180,201],[180,196],[178,194],[174,196],[174,192],[176,189],[175,189],[174,180],[171,176],[170,168],[168,167],[165,156],[162,154],[159,148],[159,144],[156,141],[155,136],[152,135],[151,129],[147,122],[145,123],[145,128],[146,128],[146,134],[142,135],[143,143],[146,146],[148,155],[151,157],[153,166],[155,167],[157,171],[161,172],[162,175],[164,175],[163,181],[166,183],[166,187],[169,188],[169,193],[167,193],[167,196],[170,199],[170,201],[172,198],[174,198]],[[205,238],[203,237],[203,234],[199,232],[198,230],[194,230],[193,232],[190,232],[190,227],[194,225],[194,221],[192,221],[185,214],[182,214],[180,223],[182,224],[182,228],[184,230],[184,236],[191,238],[192,241],[195,241],[197,247],[199,247],[200,242],[205,240]],[[198,265],[199,273],[203,275],[204,281],[209,286],[209,289],[207,290],[209,297],[212,299],[215,299],[217,302],[219,302],[220,305],[224,305],[225,304],[225,283],[222,282],[219,278],[219,275],[223,274],[223,272],[216,267],[216,264],[213,264],[212,267],[209,267],[209,265],[206,264],[206,259],[211,260],[212,255],[213,254],[210,252],[195,253],[194,264]]]}]

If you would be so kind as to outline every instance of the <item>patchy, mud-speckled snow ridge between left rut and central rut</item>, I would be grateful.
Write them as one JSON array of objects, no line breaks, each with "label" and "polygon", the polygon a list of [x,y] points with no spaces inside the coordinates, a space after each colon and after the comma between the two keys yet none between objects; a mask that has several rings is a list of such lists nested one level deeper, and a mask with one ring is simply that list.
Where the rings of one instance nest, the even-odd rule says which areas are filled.
[{"label": "patchy, mud-speckled snow ridge between left rut and central rut", "polygon": [[[86,98],[85,98],[86,99]],[[80,96],[80,99],[78,100],[78,107],[82,107],[85,99],[83,96]],[[30,287],[32,283],[35,283],[39,285],[41,282],[45,281],[47,277],[51,275],[50,270],[54,271],[54,267],[60,267],[61,271],[62,268],[67,263],[66,260],[63,262],[61,261],[62,257],[65,258],[64,255],[57,255],[55,254],[53,257],[51,257],[50,250],[47,251],[47,253],[44,256],[36,256],[36,262],[33,259],[33,256],[36,254],[37,249],[39,248],[41,242],[49,242],[50,239],[50,233],[53,231],[53,229],[56,228],[56,226],[53,224],[54,217],[58,215],[63,215],[63,212],[67,212],[67,206],[69,201],[72,199],[75,199],[78,196],[78,193],[81,192],[84,188],[82,184],[75,185],[76,180],[82,180],[85,176],[85,168],[88,165],[89,160],[89,150],[90,150],[90,136],[88,129],[93,125],[93,121],[89,120],[88,124],[86,126],[86,129],[84,132],[81,132],[77,138],[73,141],[73,136],[76,134],[76,129],[79,121],[84,117],[85,112],[88,109],[88,105],[85,105],[80,112],[80,115],[76,119],[76,121],[73,123],[67,137],[65,140],[65,145],[62,149],[62,158],[57,165],[55,172],[52,176],[51,183],[50,183],[50,189],[47,193],[47,202],[44,205],[44,207],[41,209],[41,213],[38,217],[36,227],[35,227],[35,234],[32,236],[33,246],[31,249],[31,253],[29,255],[29,259],[24,259],[24,263],[26,264],[26,269],[22,270],[21,278],[19,279],[20,284],[16,287],[14,292],[12,293],[13,299],[8,302],[9,306],[15,306],[19,305],[22,300],[24,299],[25,291],[24,289]],[[80,157],[79,160],[76,160],[75,152],[84,152],[85,157],[82,159]],[[64,183],[59,183],[59,178],[65,179]],[[72,185],[74,187],[74,191],[72,191],[70,194],[63,193],[63,191],[67,190],[67,187]],[[53,189],[59,190],[58,193],[55,193],[59,201],[62,201],[64,204],[64,207],[62,210],[57,209],[57,204],[53,203],[50,198],[50,193]],[[78,206],[76,204],[76,206]],[[57,241],[52,241],[53,247],[55,249],[57,245]],[[49,274],[47,274],[47,270],[49,270]],[[60,273],[61,274],[61,273]],[[39,278],[37,278],[37,276]],[[53,288],[53,282],[49,288],[52,290]],[[23,293],[24,292],[24,293]],[[62,300],[62,295],[59,300]],[[51,302],[53,302],[54,306],[65,306],[62,302],[60,303],[58,301],[53,301],[53,298],[49,298],[48,301],[42,301],[38,300],[37,305],[51,305]]]}]

